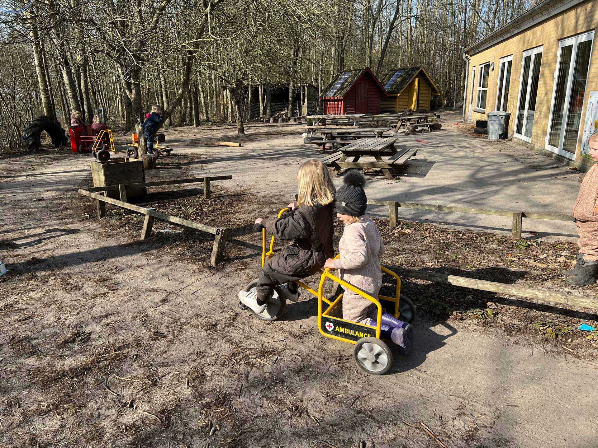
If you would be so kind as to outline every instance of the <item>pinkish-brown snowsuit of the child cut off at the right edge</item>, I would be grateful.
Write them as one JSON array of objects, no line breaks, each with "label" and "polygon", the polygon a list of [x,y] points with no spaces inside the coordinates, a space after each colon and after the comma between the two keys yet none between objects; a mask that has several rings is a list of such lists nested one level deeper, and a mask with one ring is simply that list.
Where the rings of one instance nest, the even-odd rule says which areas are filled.
[{"label": "pinkish-brown snowsuit of the child cut off at the right edge", "polygon": [[579,195],[573,204],[571,216],[577,222],[575,227],[579,234],[577,244],[584,260],[598,261],[598,165],[590,168],[585,174],[579,188]]}]

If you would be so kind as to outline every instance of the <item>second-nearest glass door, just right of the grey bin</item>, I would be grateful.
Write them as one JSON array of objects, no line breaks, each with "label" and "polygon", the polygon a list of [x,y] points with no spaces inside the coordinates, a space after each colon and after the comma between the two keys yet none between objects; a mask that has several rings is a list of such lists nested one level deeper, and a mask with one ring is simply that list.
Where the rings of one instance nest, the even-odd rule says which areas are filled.
[{"label": "second-nearest glass door, just right of the grey bin", "polygon": [[526,140],[526,142],[532,141],[533,119],[536,111],[536,99],[538,98],[540,66],[542,65],[542,48],[538,47],[524,51],[521,60],[515,136],[521,140]]}]

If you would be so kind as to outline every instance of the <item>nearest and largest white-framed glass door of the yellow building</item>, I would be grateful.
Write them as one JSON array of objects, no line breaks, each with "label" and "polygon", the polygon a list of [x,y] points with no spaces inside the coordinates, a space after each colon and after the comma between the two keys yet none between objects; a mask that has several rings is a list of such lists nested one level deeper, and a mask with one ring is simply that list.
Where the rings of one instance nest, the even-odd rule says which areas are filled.
[{"label": "nearest and largest white-framed glass door of the yellow building", "polygon": [[546,149],[575,158],[594,32],[559,43]]}]

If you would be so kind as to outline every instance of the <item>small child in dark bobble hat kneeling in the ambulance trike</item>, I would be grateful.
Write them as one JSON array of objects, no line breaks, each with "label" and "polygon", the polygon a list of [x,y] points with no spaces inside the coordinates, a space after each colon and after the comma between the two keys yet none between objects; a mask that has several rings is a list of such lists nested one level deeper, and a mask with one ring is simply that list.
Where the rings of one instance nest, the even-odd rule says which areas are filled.
[{"label": "small child in dark bobble hat kneeling in the ambulance trike", "polygon": [[[334,198],[334,211],[344,222],[343,237],[338,243],[340,258],[328,259],[324,267],[338,269],[338,277],[342,280],[377,298],[382,286],[378,257],[385,247],[376,223],[365,214],[365,177],[358,170],[350,170],[343,176],[343,182]],[[375,327],[376,317],[376,304],[344,289],[343,319]],[[384,313],[381,327],[383,337],[401,347],[403,354],[409,352],[413,343],[411,324]]]}]

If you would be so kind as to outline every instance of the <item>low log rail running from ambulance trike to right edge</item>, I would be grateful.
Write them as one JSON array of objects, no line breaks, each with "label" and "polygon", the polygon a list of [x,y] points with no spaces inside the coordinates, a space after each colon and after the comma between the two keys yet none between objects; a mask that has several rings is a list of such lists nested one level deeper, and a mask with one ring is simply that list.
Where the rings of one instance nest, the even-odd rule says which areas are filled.
[{"label": "low log rail running from ambulance trike to right edge", "polygon": [[583,308],[598,310],[598,300],[592,299],[591,297],[572,296],[570,294],[558,293],[547,289],[509,285],[506,283],[497,283],[495,281],[459,277],[458,275],[440,274],[438,272],[426,272],[417,271],[416,269],[398,268],[396,266],[384,266],[405,278],[417,278],[419,280],[434,281],[435,283],[444,283],[463,288],[478,289],[499,294],[510,294],[512,296],[526,297],[527,299],[537,299],[551,303],[565,303],[566,305],[581,306]]}]

